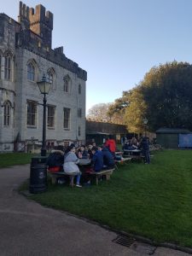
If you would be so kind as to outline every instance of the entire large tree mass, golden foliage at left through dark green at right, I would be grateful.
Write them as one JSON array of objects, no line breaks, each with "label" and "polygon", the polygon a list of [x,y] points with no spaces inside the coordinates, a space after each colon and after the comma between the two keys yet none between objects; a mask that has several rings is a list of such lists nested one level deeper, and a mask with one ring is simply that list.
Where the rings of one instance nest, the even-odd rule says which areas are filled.
[{"label": "entire large tree mass, golden foliage at left through dark green at right", "polygon": [[144,131],[144,118],[148,131],[162,126],[192,130],[192,65],[172,61],[152,67],[143,81],[113,103],[113,113],[122,115],[132,132]]}]

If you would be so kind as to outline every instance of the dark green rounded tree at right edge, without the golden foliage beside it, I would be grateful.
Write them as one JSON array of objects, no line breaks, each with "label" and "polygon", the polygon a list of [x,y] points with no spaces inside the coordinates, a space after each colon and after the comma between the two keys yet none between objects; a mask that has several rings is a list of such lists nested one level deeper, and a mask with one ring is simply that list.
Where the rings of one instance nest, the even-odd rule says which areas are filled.
[{"label": "dark green rounded tree at right edge, without the golden foliage beside it", "polygon": [[192,129],[192,66],[173,61],[153,67],[140,84],[148,129]]}]

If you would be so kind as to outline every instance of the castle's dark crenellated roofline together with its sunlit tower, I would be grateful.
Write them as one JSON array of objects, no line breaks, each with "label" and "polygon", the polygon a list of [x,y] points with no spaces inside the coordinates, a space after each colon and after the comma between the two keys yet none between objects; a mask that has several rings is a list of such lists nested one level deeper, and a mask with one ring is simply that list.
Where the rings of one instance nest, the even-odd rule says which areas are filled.
[{"label": "castle's dark crenellated roofline together with its sunlit tower", "polygon": [[36,55],[54,62],[76,73],[79,79],[86,81],[86,71],[64,55],[62,46],[51,49],[51,32],[53,29],[53,14],[51,12],[46,12],[41,4],[33,9],[20,2],[18,21],[20,32],[16,34],[16,46],[30,50]]}]

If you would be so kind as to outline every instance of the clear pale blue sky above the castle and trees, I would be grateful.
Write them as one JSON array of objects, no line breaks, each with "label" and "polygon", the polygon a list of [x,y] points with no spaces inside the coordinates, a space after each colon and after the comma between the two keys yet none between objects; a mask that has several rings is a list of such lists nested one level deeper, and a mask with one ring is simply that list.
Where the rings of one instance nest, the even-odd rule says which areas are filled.
[{"label": "clear pale blue sky above the castle and trees", "polygon": [[[191,0],[23,0],[54,14],[52,48],[88,73],[87,111],[113,102],[166,61],[192,62]],[[0,0],[17,20],[19,1]]]}]

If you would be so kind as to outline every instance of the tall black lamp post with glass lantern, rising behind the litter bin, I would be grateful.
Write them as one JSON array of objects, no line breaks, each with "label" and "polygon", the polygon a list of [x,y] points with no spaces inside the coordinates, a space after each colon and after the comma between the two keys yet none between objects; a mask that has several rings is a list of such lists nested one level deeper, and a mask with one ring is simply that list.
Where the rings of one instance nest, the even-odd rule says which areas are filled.
[{"label": "tall black lamp post with glass lantern, rising behind the litter bin", "polygon": [[44,95],[44,104],[42,104],[44,106],[44,116],[43,116],[43,139],[42,139],[41,156],[46,156],[46,107],[47,107],[46,94],[49,93],[51,83],[47,81],[44,75],[42,80],[40,82],[37,82],[37,84],[41,94]]}]

